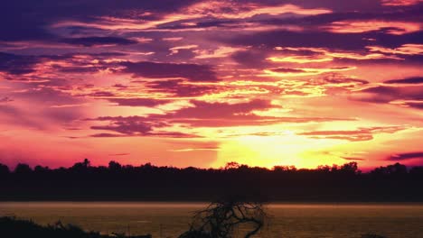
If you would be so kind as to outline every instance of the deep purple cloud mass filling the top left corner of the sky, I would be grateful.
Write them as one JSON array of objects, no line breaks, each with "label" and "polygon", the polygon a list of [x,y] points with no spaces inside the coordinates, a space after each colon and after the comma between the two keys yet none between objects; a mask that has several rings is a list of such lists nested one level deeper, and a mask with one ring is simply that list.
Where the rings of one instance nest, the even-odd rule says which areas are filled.
[{"label": "deep purple cloud mass filling the top left corner of the sky", "polygon": [[[9,1],[0,8],[0,41],[56,41],[57,36],[49,27],[60,21],[93,23],[104,16],[157,20],[194,2],[197,1],[45,0],[42,4],[31,0]],[[143,16],[146,12],[155,14]]]}]

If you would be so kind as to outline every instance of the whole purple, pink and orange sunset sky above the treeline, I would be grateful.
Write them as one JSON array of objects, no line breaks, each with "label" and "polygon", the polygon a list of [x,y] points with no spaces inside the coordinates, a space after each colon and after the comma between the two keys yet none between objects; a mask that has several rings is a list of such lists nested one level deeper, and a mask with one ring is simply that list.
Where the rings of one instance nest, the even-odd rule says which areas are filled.
[{"label": "whole purple, pink and orange sunset sky above the treeline", "polygon": [[0,162],[423,165],[423,1],[14,0]]}]

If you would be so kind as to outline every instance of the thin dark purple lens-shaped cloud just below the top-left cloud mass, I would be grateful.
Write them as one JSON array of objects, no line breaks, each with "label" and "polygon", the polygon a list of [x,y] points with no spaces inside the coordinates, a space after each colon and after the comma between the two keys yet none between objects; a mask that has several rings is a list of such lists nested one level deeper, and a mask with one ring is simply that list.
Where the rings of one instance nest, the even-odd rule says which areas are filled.
[{"label": "thin dark purple lens-shaped cloud just below the top-left cloud mass", "polygon": [[80,45],[80,46],[96,46],[96,45],[129,45],[136,44],[137,41],[129,40],[121,37],[81,37],[81,38],[67,38],[62,39],[61,42]]}]

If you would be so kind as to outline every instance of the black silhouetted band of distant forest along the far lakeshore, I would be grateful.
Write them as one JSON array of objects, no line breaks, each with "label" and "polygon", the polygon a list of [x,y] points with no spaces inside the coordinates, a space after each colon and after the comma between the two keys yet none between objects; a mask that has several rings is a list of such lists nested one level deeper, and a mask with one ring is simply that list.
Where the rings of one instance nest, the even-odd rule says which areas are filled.
[{"label": "black silhouetted band of distant forest along the far lakeshore", "polygon": [[423,167],[396,163],[362,173],[356,162],[317,169],[222,169],[121,165],[94,167],[89,160],[49,169],[0,164],[0,200],[210,201],[244,197],[262,201],[422,202]]}]

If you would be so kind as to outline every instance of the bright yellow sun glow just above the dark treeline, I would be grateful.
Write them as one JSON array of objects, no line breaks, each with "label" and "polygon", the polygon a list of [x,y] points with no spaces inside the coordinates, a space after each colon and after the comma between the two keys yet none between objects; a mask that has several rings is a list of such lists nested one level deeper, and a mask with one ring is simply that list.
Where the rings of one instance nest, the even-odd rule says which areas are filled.
[{"label": "bright yellow sun glow just above the dark treeline", "polygon": [[230,161],[269,169],[277,165],[313,169],[322,164],[343,164],[345,161],[340,157],[321,153],[324,148],[343,143],[336,140],[311,140],[292,131],[270,136],[245,135],[223,142],[218,160],[212,166],[224,167]]}]

